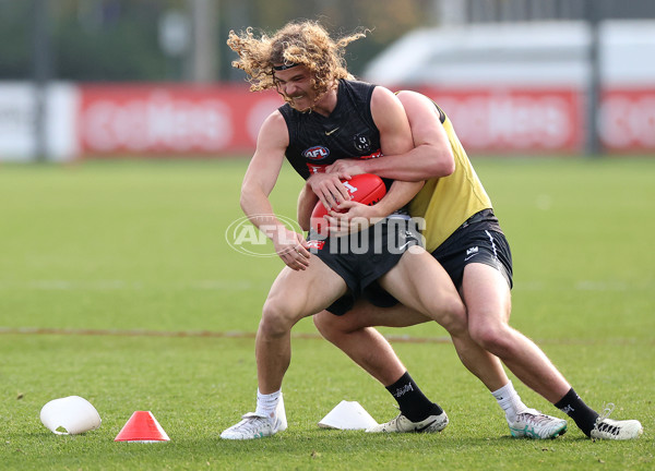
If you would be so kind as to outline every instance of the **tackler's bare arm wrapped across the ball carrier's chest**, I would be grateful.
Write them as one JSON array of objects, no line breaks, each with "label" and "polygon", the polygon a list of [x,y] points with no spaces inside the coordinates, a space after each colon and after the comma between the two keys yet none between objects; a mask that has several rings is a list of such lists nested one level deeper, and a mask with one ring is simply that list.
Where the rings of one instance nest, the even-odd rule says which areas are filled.
[{"label": "tackler's bare arm wrapped across the ball carrier's chest", "polygon": [[455,161],[448,134],[439,119],[434,104],[415,92],[401,92],[402,102],[414,140],[408,153],[384,153],[377,159],[343,159],[327,168],[327,172],[353,177],[359,173],[376,173],[396,180],[427,180],[448,177],[455,169]]}]

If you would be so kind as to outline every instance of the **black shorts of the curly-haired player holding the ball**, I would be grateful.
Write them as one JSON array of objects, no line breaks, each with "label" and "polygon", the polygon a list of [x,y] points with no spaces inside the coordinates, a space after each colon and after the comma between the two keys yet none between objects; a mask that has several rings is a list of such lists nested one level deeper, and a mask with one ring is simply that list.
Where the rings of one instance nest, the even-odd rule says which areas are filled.
[{"label": "black shorts of the curly-haired player holding the ball", "polygon": [[386,300],[377,301],[385,291],[376,280],[391,270],[409,247],[420,245],[421,239],[408,220],[392,217],[348,235],[321,238],[312,231],[308,241],[309,251],[348,287],[348,294],[327,307],[331,313],[343,315],[361,295],[374,305],[388,306]]}]

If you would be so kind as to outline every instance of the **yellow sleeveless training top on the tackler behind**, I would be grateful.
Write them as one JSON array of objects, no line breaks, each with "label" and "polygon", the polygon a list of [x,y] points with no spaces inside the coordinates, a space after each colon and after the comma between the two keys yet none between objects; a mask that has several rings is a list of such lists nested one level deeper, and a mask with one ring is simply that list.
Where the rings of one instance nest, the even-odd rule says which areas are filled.
[{"label": "yellow sleeveless training top on the tackler behind", "polygon": [[433,252],[471,216],[492,207],[450,119],[437,104],[434,106],[453,149],[455,171],[448,177],[426,181],[409,203],[409,214],[426,220],[422,233],[428,252]]}]

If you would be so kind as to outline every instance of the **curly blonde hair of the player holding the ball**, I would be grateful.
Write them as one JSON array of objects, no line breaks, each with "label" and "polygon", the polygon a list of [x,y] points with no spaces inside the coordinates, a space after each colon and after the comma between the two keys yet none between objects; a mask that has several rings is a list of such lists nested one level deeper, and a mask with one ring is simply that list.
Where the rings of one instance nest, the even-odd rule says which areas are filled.
[{"label": "curly blonde hair of the player holding the ball", "polygon": [[353,78],[346,69],[345,48],[367,33],[360,29],[333,40],[318,22],[301,21],[287,23],[272,37],[265,33],[257,37],[252,27],[239,34],[230,31],[227,45],[239,55],[233,67],[246,72],[251,92],[276,88],[274,65],[302,64],[309,69],[312,88],[320,97],[335,88],[340,78]]}]

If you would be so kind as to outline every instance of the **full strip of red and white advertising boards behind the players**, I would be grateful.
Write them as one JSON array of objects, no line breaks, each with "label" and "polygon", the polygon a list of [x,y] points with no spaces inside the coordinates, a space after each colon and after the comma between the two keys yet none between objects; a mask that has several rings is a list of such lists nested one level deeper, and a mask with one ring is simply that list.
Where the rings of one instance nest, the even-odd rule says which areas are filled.
[{"label": "full strip of red and white advertising boards behind the players", "polygon": [[[584,95],[572,87],[418,88],[450,117],[475,154],[584,152]],[[34,88],[0,83],[0,161],[35,157]],[[55,84],[46,92],[49,158],[230,156],[254,150],[283,104],[247,85]],[[606,89],[595,123],[611,154],[655,153],[655,88]]]}]

